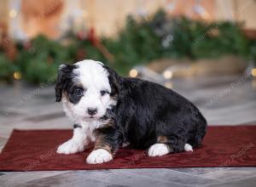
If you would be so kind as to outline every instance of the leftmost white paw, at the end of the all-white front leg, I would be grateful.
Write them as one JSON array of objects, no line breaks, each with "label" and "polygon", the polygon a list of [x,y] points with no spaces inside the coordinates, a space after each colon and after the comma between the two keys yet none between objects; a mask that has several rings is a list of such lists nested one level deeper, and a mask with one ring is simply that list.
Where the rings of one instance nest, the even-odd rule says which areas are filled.
[{"label": "leftmost white paw, at the end of the all-white front leg", "polygon": [[61,144],[58,147],[57,153],[59,154],[73,154],[84,151],[84,144],[77,143],[73,139],[69,139],[67,142]]}]

